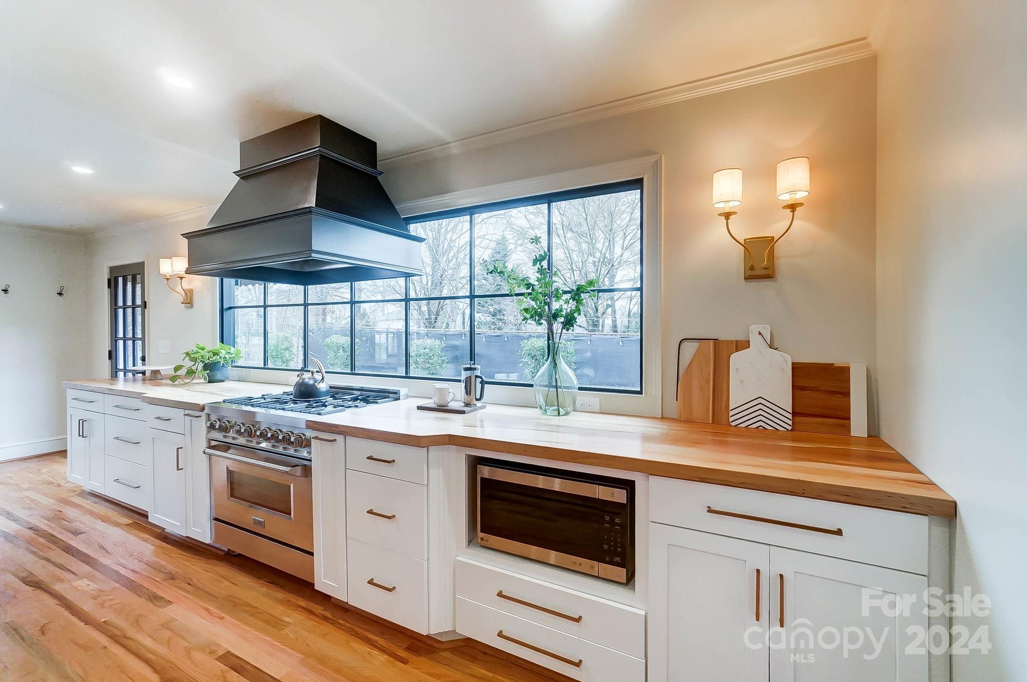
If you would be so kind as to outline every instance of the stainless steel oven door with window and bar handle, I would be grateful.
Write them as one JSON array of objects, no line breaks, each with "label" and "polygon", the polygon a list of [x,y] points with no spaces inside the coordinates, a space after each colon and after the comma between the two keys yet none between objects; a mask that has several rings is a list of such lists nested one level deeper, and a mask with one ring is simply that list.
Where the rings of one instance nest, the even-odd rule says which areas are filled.
[{"label": "stainless steel oven door with window and bar handle", "polygon": [[203,452],[211,457],[215,519],[314,551],[309,461],[226,443]]}]

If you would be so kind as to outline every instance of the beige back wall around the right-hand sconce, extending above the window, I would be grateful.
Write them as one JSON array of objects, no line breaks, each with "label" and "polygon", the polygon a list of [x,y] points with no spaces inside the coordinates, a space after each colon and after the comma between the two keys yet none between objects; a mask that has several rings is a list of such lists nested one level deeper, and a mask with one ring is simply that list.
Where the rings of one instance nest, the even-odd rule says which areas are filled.
[{"label": "beige back wall around the right-hand sconce, extending above the window", "polygon": [[[748,338],[765,323],[795,359],[875,365],[875,63],[789,78],[387,169],[397,203],[659,153],[663,155],[663,412],[682,337]],[[812,193],[778,244],[777,278],[741,278],[741,249],[710,205],[711,175],[745,172],[732,226],[779,233],[774,168],[811,158]]]}]

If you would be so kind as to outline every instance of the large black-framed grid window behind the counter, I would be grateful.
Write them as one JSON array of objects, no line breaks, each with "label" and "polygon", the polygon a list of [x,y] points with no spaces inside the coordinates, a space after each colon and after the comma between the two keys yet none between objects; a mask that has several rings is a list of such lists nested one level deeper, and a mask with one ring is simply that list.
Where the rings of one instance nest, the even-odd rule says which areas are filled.
[{"label": "large black-framed grid window behind the counter", "polygon": [[530,385],[544,330],[486,272],[502,261],[531,274],[542,238],[549,267],[571,287],[596,277],[577,327],[564,336],[583,388],[642,392],[642,180],[407,219],[425,237],[424,275],[300,287],[223,279],[221,337],[238,366],[452,379],[474,359],[490,383]]}]

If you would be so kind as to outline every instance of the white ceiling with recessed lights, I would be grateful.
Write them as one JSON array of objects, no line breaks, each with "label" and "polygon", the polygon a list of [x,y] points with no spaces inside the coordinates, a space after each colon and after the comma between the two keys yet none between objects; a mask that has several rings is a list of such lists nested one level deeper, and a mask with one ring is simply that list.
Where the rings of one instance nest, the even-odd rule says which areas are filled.
[{"label": "white ceiling with recessed lights", "polygon": [[862,38],[880,4],[3,2],[0,223],[165,216],[220,201],[240,140],[310,114],[386,157]]}]

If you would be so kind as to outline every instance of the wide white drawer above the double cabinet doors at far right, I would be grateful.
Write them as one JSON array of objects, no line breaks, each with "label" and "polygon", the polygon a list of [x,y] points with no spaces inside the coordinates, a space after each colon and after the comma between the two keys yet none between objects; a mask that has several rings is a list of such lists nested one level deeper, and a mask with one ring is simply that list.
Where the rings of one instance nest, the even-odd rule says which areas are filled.
[{"label": "wide white drawer above the double cabinet doors at far right", "polygon": [[649,518],[671,526],[927,573],[927,517],[913,514],[651,477]]}]

